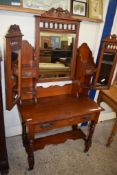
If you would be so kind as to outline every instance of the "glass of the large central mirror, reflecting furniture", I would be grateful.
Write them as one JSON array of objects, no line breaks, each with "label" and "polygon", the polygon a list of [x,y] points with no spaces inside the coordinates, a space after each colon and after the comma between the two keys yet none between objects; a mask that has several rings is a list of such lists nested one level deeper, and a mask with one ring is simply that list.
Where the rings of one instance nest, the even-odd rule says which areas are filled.
[{"label": "glass of the large central mirror, reflecting furniture", "polygon": [[75,34],[40,32],[40,79],[70,77]]}]

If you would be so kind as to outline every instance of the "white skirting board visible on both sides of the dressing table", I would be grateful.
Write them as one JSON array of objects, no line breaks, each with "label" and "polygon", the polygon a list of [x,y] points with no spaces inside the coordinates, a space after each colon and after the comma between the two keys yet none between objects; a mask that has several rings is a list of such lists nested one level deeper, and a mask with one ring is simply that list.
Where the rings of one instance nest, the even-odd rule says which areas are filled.
[{"label": "white skirting board visible on both sides of the dressing table", "polygon": [[[115,112],[108,112],[108,113],[101,112],[99,117],[99,122],[114,119],[114,118],[116,118]],[[22,128],[20,124],[13,127],[6,127],[5,130],[6,130],[6,137],[21,135],[22,133]]]}]

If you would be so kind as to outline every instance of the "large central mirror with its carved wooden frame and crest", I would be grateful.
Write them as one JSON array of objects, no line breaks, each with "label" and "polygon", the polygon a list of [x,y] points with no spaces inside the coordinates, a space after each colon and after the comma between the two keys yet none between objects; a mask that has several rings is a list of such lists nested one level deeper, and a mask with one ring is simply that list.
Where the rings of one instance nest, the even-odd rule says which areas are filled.
[{"label": "large central mirror with its carved wooden frame and crest", "polygon": [[39,81],[72,79],[80,21],[62,8],[52,8],[41,16],[35,16],[35,21]]}]

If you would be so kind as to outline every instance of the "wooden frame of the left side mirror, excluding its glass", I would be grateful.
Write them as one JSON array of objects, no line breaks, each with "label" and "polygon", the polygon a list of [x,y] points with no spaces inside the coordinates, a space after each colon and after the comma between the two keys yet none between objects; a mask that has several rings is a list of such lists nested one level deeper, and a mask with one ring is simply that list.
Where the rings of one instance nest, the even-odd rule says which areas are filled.
[{"label": "wooden frame of the left side mirror, excluding its glass", "polygon": [[[11,25],[8,33],[6,34],[6,58],[5,58],[5,70],[6,70],[6,109],[11,110],[13,106],[18,103],[21,93],[21,45],[22,45],[22,33],[18,25]],[[18,62],[17,62],[17,88],[14,89],[15,81],[12,69],[12,57],[13,51],[18,50]],[[14,96],[13,91],[16,94]]]}]

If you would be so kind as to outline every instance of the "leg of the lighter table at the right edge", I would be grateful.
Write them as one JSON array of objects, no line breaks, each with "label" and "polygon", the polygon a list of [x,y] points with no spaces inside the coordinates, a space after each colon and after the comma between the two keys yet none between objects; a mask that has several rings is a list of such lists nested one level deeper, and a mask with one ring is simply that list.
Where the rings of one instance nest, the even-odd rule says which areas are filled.
[{"label": "leg of the lighter table at the right edge", "polygon": [[[117,116],[117,113],[116,113],[116,116]],[[112,143],[113,138],[114,138],[116,132],[117,132],[117,118],[116,118],[115,124],[114,124],[114,126],[113,126],[113,128],[112,128],[111,135],[110,135],[110,137],[108,138],[108,141],[107,141],[106,146],[110,146],[110,144]]]}]

